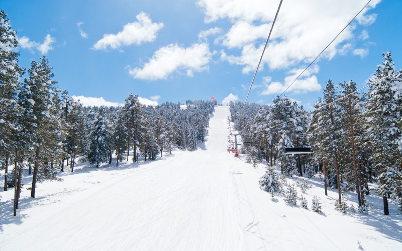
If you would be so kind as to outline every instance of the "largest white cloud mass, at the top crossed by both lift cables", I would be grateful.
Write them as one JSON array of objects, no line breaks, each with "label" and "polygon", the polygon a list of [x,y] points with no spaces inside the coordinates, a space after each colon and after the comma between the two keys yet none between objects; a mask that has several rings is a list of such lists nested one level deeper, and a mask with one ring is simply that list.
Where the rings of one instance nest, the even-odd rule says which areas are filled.
[{"label": "largest white cloud mass, at the top crossed by both lift cables", "polygon": [[[380,0],[373,0],[321,55],[319,60],[331,60],[345,52],[345,43],[353,38],[358,25],[370,25],[375,14],[367,14]],[[242,72],[255,71],[265,39],[272,25],[278,2],[266,0],[198,0],[205,13],[205,22],[229,19],[232,27],[222,36],[228,49],[241,48],[240,55],[221,52],[221,59],[243,66]],[[310,63],[349,23],[366,4],[366,0],[284,1],[262,59],[261,69],[287,69],[300,63]],[[268,10],[268,11],[267,11]],[[355,47],[353,44],[352,47]],[[351,52],[349,50],[348,52]],[[236,53],[236,51],[235,51]],[[342,54],[341,54],[342,55]]]}]

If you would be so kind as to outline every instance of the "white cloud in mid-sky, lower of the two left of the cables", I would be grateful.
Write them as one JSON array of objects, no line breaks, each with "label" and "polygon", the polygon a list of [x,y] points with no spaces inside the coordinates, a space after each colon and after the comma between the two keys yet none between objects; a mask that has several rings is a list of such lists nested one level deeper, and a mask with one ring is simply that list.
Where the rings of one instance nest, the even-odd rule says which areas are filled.
[{"label": "white cloud in mid-sky, lower of the two left of the cables", "polygon": [[207,43],[193,44],[184,48],[170,44],[157,50],[143,68],[129,69],[130,75],[138,79],[166,79],[173,72],[192,76],[193,72],[208,70],[211,52]]}]

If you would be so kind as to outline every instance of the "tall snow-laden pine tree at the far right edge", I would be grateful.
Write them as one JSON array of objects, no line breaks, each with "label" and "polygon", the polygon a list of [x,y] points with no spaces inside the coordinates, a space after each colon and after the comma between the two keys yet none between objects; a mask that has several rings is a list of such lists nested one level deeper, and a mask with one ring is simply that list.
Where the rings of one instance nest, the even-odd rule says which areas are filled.
[{"label": "tall snow-laden pine tree at the far right edge", "polygon": [[398,123],[402,118],[402,84],[400,73],[395,71],[391,53],[382,54],[384,61],[377,66],[374,77],[369,80],[370,92],[366,101],[366,124],[370,143],[374,148],[371,156],[373,167],[377,170],[380,184],[378,194],[382,195],[384,215],[389,214],[388,196],[398,197],[402,186],[401,152],[398,141],[402,131]]}]

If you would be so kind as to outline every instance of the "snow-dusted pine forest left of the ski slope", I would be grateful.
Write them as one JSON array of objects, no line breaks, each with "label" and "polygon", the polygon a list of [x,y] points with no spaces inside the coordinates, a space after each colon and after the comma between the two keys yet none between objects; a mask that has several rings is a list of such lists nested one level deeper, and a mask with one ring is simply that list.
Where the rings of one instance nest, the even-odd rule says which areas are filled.
[{"label": "snow-dusted pine forest left of the ski slope", "polygon": [[78,156],[96,167],[116,156],[118,166],[130,155],[133,162],[155,160],[204,142],[215,100],[187,100],[182,109],[171,102],[146,106],[130,93],[123,106],[85,107],[57,87],[45,56],[26,70],[19,55],[16,31],[0,11],[0,169],[4,190],[14,187],[14,216],[25,170],[35,198],[37,182],[60,180],[65,163],[73,172]]}]

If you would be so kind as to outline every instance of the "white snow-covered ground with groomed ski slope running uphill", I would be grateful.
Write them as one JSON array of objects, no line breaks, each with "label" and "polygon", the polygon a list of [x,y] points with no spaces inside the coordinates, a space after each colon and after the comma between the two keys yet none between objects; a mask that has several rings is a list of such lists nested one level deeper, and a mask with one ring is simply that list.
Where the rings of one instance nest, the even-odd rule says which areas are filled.
[{"label": "white snow-covered ground with groomed ski slope running uphill", "polygon": [[309,208],[317,195],[323,213],[271,200],[258,184],[264,165],[227,153],[227,115],[216,107],[196,152],[117,168],[81,163],[60,174],[63,182],[38,184],[35,199],[26,176],[17,217],[14,190],[0,192],[0,250],[356,250],[358,242],[402,250],[402,217],[393,205],[383,216],[377,196],[367,196],[369,215],[343,214],[336,190],[327,197],[322,181],[307,179]]}]

